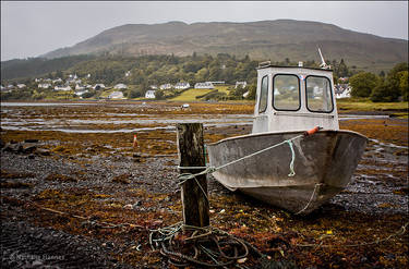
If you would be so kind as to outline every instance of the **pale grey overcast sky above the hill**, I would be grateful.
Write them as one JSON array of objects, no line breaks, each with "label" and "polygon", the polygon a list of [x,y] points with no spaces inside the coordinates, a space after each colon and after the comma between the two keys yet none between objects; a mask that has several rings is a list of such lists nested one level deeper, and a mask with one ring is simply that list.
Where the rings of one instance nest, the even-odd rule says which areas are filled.
[{"label": "pale grey overcast sky above the hill", "polygon": [[292,19],[408,39],[407,1],[1,1],[1,60],[37,57],[123,24]]}]

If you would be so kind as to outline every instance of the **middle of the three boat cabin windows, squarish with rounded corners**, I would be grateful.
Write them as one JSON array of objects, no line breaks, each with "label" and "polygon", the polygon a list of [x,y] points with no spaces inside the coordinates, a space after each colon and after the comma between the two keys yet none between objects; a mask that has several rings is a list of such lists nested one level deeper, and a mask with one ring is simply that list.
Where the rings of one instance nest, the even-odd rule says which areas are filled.
[{"label": "middle of the three boat cabin windows, squarish with rounded corners", "polygon": [[275,75],[273,88],[274,109],[287,111],[300,109],[300,81],[297,75]]}]

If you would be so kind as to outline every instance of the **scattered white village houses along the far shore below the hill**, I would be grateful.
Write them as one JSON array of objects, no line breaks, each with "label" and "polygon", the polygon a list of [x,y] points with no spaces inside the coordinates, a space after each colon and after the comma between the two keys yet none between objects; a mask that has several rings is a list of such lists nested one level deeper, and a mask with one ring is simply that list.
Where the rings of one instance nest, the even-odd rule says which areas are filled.
[{"label": "scattered white village houses along the far shore below the hill", "polygon": [[[131,71],[125,72],[124,77],[130,76]],[[94,85],[88,84],[87,82],[91,78],[91,74],[85,75],[84,77],[79,77],[76,74],[69,74],[67,78],[49,78],[49,77],[40,77],[34,78],[29,85],[24,83],[13,83],[7,86],[1,85],[1,93],[13,93],[15,90],[28,90],[35,89],[37,91],[40,90],[51,90],[53,93],[63,94],[65,96],[70,96],[70,99],[96,99],[97,95],[95,91],[105,93],[103,95],[98,95],[97,99],[107,99],[107,100],[127,100],[127,99],[167,99],[166,94],[164,98],[164,94],[158,95],[158,90],[164,91],[173,91],[171,97],[176,97],[181,93],[188,89],[203,89],[203,90],[213,90],[218,91],[220,86],[222,86],[222,90],[226,94],[229,94],[231,90],[236,89],[244,89],[240,91],[239,98],[246,99],[249,97],[253,98],[250,95],[249,85],[245,81],[237,81],[234,85],[228,85],[225,81],[206,81],[206,82],[197,82],[194,84],[190,84],[189,82],[178,82],[175,84],[165,83],[161,85],[151,85],[148,88],[143,90],[144,93],[137,97],[132,98],[129,95],[129,90],[134,87],[134,85],[127,85],[124,83],[117,83],[115,85],[106,85],[105,83],[95,83]],[[335,95],[337,99],[340,98],[350,98],[351,97],[351,86],[348,84],[349,77],[340,77],[338,83],[335,84]],[[228,89],[228,90],[226,90]],[[91,94],[91,91],[94,91]],[[208,91],[196,91],[197,94],[207,94]],[[160,96],[160,98],[158,98]]]}]

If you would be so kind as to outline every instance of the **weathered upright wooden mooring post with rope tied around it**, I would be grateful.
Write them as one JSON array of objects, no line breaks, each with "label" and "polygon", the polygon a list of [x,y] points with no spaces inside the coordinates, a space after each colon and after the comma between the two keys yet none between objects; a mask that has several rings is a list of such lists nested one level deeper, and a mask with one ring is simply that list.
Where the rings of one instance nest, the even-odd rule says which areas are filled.
[{"label": "weathered upright wooden mooring post with rope tied around it", "polygon": [[[177,124],[180,167],[205,167],[203,124]],[[181,173],[199,173],[204,169],[180,169]],[[196,179],[196,180],[195,180]],[[206,174],[189,179],[181,189],[183,223],[194,227],[209,225]],[[196,182],[197,181],[197,182]],[[203,191],[197,185],[201,184]]]}]

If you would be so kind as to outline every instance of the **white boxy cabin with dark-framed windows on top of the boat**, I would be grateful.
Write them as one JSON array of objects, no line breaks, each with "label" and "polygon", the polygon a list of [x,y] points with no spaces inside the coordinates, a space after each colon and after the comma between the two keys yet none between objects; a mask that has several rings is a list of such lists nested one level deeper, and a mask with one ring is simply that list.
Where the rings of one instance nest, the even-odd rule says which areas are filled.
[{"label": "white boxy cabin with dark-framed windows on top of the boat", "polygon": [[333,71],[300,66],[257,68],[252,133],[339,130]]}]

